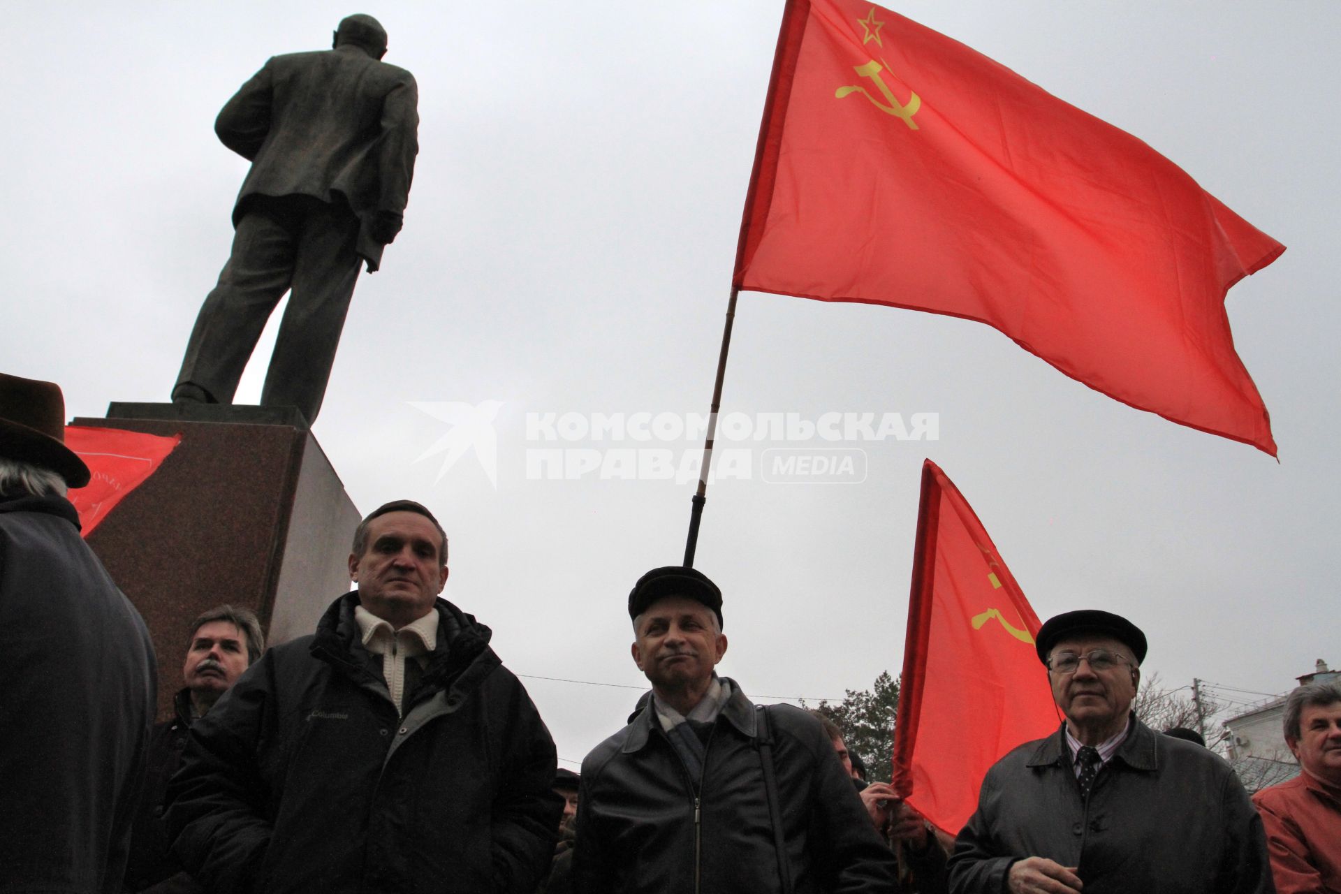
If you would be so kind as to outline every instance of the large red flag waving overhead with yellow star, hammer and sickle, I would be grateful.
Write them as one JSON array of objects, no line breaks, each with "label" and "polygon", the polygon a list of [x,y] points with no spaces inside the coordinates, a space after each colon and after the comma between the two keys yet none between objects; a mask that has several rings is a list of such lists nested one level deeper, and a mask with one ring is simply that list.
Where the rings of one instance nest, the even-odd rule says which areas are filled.
[{"label": "large red flag waving overhead with yellow star, hammer and sickle", "polygon": [[858,0],[789,0],[734,285],[992,326],[1275,456],[1224,295],[1285,247],[1140,139]]}]

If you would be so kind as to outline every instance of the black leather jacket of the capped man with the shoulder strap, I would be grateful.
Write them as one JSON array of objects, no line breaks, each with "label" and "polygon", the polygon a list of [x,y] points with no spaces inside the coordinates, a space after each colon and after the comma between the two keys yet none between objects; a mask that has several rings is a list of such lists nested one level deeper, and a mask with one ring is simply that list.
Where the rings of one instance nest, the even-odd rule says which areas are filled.
[{"label": "black leather jacket of the capped man with the shoulder strap", "polygon": [[[574,890],[783,890],[759,712],[731,686],[697,792],[650,708],[582,761]],[[893,891],[894,858],[819,722],[790,705],[768,708],[768,721],[791,890]]]}]

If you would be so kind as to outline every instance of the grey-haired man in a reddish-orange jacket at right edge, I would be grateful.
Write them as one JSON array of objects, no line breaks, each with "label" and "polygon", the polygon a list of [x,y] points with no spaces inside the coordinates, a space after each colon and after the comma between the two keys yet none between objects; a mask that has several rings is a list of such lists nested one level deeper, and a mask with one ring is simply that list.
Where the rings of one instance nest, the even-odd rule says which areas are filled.
[{"label": "grey-haired man in a reddish-orange jacket at right edge", "polygon": [[1252,796],[1275,890],[1341,891],[1341,680],[1316,680],[1290,693],[1285,744],[1299,775]]}]

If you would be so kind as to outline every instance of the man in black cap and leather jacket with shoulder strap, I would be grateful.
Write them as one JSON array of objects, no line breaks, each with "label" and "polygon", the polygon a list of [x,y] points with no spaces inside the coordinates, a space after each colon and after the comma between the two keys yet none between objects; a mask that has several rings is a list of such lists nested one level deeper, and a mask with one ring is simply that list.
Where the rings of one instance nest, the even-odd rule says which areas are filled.
[{"label": "man in black cap and leather jacket with shoulder strap", "polygon": [[582,761],[574,890],[893,891],[894,858],[819,721],[715,673],[717,586],[656,568],[629,617],[652,698]]}]

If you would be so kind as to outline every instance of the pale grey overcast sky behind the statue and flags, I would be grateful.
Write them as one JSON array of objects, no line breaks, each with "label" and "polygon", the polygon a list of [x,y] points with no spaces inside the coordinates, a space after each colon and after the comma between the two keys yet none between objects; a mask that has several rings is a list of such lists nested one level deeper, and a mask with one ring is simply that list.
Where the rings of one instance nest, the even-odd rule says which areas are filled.
[{"label": "pale grey overcast sky behind the statue and flags", "polygon": [[[215,115],[267,56],[326,48],[355,11],[418,80],[420,155],[314,432],[359,511],[413,497],[439,515],[447,598],[493,629],[577,761],[645,682],[625,599],[679,563],[693,481],[620,466],[538,480],[539,452],[669,450],[679,465],[701,442],[551,442],[543,420],[707,413],[779,0],[16,5],[0,366],[59,382],[71,417],[166,401],[247,169]],[[1102,397],[978,323],[743,294],[723,413],[935,413],[939,437],[842,445],[864,452],[865,478],[827,485],[763,480],[766,448],[805,444],[724,445],[748,474],[709,488],[696,562],[725,594],[723,673],[752,696],[841,698],[898,672],[924,457],[1041,618],[1128,615],[1169,685],[1274,693],[1341,662],[1341,4],[897,11],[1136,134],[1289,247],[1228,299],[1281,462]],[[259,399],[272,339],[239,402]],[[496,453],[421,460],[465,418],[455,405],[476,407]]]}]

